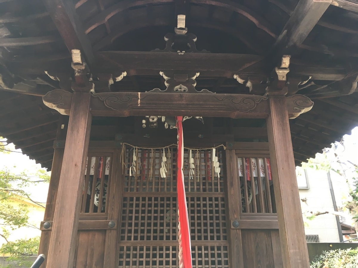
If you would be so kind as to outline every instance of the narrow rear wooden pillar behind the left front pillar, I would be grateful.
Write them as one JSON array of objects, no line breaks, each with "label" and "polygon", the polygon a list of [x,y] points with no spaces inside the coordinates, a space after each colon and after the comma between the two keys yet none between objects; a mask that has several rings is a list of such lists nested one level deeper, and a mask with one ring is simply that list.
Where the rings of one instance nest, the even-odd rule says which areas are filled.
[{"label": "narrow rear wooden pillar behind the left front pillar", "polygon": [[[57,127],[56,140],[63,140],[66,137],[67,124],[68,124],[68,119],[66,120],[66,118],[67,118],[67,116],[63,116],[63,115],[61,115],[61,117],[60,117],[60,120],[58,122],[58,127]],[[64,125],[63,129],[61,127],[62,125]],[[45,213],[44,213],[44,221],[53,221],[55,205],[56,205],[56,200],[57,200],[58,183],[60,181],[60,174],[61,174],[61,168],[62,168],[62,160],[63,160],[63,149],[55,148],[54,153],[53,153],[51,177],[50,177],[50,183],[49,183],[49,187],[48,187],[46,208],[45,208]],[[40,239],[38,254],[45,254],[45,256],[46,256],[46,259],[41,266],[42,268],[46,268],[51,232],[52,232],[51,230],[43,230],[41,232],[41,239]]]}]

